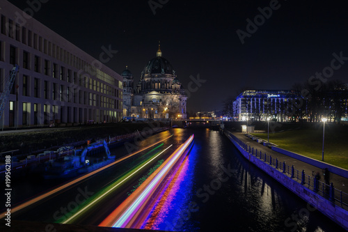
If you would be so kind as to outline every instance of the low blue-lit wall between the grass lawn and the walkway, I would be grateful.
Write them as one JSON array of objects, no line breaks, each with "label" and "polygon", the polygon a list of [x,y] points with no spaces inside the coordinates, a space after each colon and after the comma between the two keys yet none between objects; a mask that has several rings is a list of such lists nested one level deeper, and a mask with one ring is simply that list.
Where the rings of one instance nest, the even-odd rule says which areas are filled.
[{"label": "low blue-lit wall between the grass lawn and the walkway", "polygon": [[274,151],[276,151],[278,153],[282,153],[283,155],[287,155],[287,156],[293,157],[296,160],[301,160],[302,162],[306,162],[306,163],[311,164],[311,165],[313,165],[315,167],[318,167],[320,169],[328,168],[329,171],[331,171],[332,173],[335,173],[335,174],[337,174],[339,176],[343,176],[345,178],[348,178],[348,170],[347,169],[342,169],[340,167],[336,167],[334,165],[327,164],[327,163],[319,161],[319,160],[314,160],[314,159],[312,159],[310,157],[306,157],[306,156],[303,156],[303,155],[292,153],[289,150],[285,150],[285,149],[282,149],[282,148],[277,148],[276,146],[272,146],[272,150],[274,150]]}]

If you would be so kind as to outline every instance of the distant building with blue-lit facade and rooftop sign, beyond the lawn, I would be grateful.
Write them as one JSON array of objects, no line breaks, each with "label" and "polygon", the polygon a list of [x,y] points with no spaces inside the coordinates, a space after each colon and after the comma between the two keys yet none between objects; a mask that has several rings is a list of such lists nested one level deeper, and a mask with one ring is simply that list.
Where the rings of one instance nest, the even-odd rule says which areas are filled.
[{"label": "distant building with blue-lit facade and rooftop sign, beyond the lawn", "polygon": [[233,121],[290,121],[292,107],[300,100],[298,91],[248,90],[239,94],[233,102]]}]

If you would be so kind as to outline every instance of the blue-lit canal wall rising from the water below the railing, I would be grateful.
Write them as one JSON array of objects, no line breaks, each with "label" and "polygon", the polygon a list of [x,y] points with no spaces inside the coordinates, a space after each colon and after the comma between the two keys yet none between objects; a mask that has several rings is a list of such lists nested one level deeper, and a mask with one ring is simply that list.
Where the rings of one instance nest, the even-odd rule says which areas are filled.
[{"label": "blue-lit canal wall rising from the water below the railing", "polygon": [[239,146],[235,136],[232,133],[225,132],[225,134],[228,137],[228,139],[232,141],[232,144],[235,145],[235,147],[239,150],[239,152],[242,153],[244,157],[246,157],[247,160],[249,160],[251,163],[255,164],[257,167],[262,169],[262,171],[269,174],[269,176],[271,176],[272,178],[278,180],[279,183],[283,184],[289,190],[294,192],[294,194],[296,194],[297,196],[300,196],[301,199],[310,203],[314,208],[316,208],[317,210],[322,212],[324,215],[332,219],[333,222],[339,224],[344,229],[348,230],[348,211],[347,210],[340,208],[339,206],[336,206],[332,201],[329,201],[323,196],[320,196],[316,192],[313,192],[312,190],[310,190],[308,187],[301,185],[301,183],[298,183],[293,178],[290,178],[289,176],[285,175],[278,169],[272,167],[266,162],[263,162],[252,153],[249,153],[247,151],[248,149],[244,150],[242,146]]}]

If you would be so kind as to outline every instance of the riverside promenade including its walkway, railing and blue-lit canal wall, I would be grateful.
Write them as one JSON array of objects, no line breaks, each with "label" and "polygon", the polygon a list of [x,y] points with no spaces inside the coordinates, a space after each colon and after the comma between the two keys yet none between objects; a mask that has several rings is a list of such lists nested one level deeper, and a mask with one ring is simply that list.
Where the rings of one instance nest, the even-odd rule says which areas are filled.
[{"label": "riverside promenade including its walkway, railing and blue-lit canal wall", "polygon": [[[322,171],[322,168],[280,154],[240,132],[225,130],[225,134],[249,162],[278,180],[287,189],[307,201],[309,205],[332,219],[333,222],[348,230],[348,194],[343,192],[347,189],[345,185],[347,178],[331,173],[330,185],[326,185],[312,174]],[[327,165],[329,170],[337,168]],[[340,171],[344,175],[346,174],[345,169]],[[343,188],[338,189],[335,185],[340,184]]]}]

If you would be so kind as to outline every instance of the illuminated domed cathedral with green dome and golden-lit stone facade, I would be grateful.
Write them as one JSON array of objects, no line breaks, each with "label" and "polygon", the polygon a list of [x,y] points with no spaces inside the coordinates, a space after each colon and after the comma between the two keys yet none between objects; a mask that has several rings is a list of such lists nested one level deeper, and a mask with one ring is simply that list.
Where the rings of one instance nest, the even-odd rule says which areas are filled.
[{"label": "illuminated domed cathedral with green dome and golden-lit stone facade", "polygon": [[123,116],[148,119],[187,118],[187,95],[171,63],[162,56],[160,46],[157,56],[145,65],[136,86],[128,67],[121,76]]}]

